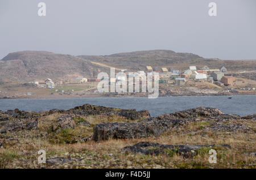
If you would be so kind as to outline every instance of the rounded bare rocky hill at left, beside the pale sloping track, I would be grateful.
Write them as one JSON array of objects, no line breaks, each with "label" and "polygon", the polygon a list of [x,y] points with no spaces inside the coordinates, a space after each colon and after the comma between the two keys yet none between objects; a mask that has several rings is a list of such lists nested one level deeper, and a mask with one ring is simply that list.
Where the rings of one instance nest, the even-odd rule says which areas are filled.
[{"label": "rounded bare rocky hill at left, beside the pale sloping track", "polygon": [[64,79],[70,76],[97,76],[105,67],[73,55],[24,51],[6,55],[0,61],[0,76],[8,80]]}]

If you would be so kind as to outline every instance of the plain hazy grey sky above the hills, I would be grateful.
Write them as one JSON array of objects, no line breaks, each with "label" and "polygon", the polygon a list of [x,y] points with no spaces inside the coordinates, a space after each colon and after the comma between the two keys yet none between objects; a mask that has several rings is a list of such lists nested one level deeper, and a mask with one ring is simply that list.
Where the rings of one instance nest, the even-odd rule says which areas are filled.
[{"label": "plain hazy grey sky above the hills", "polygon": [[[47,15],[38,16],[45,2]],[[217,3],[217,16],[208,4]],[[0,0],[0,59],[47,50],[105,55],[168,49],[256,59],[255,0]]]}]

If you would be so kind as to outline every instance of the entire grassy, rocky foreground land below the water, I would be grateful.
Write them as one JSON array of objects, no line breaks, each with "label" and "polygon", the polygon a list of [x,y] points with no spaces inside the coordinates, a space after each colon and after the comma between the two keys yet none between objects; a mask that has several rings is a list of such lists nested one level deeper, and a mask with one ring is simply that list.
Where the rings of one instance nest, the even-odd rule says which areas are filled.
[{"label": "entire grassy, rocky foreground land below the water", "polygon": [[255,115],[199,107],[150,117],[88,104],[0,111],[0,168],[255,168]]}]

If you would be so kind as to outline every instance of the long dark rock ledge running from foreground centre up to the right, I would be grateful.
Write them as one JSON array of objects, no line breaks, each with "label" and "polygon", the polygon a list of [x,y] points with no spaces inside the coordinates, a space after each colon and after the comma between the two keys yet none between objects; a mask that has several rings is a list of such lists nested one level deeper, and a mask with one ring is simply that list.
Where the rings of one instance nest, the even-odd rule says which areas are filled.
[{"label": "long dark rock ledge running from foreground centre up to the right", "polygon": [[224,114],[216,108],[193,108],[159,117],[143,119],[137,123],[99,123],[94,126],[93,140],[146,138],[159,136],[177,127],[184,127],[191,122],[213,121],[208,130],[217,131],[253,131],[245,125],[224,125],[225,121],[241,119],[240,115]]}]

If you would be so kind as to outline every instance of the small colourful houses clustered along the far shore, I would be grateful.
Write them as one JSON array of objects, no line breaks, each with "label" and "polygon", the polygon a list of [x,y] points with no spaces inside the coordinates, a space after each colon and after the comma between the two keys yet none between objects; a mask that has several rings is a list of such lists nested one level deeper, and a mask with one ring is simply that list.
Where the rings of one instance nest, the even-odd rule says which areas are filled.
[{"label": "small colourful houses clustered along the far shore", "polygon": [[[121,70],[121,72],[125,72],[127,70]],[[220,69],[210,69],[208,66],[204,66],[199,70],[196,66],[189,66],[187,70],[180,71],[175,68],[168,67],[151,67],[146,66],[146,72],[138,71],[137,74],[147,74],[148,72],[158,72],[159,73],[159,83],[174,83],[175,85],[184,85],[187,81],[193,82],[205,82],[208,81],[210,83],[214,83],[217,85],[230,85],[236,82],[236,78],[233,76],[225,75],[227,69],[225,67],[221,67]],[[128,74],[128,76],[133,76],[134,74]],[[109,83],[118,83],[122,82],[124,79],[123,76],[117,76],[115,78],[104,77],[102,79],[97,78],[73,78],[67,81],[68,84],[81,84],[86,82],[100,82],[101,80],[108,80]],[[146,80],[141,76],[141,81]],[[34,82],[36,85],[40,87],[46,88],[54,88],[56,85],[62,85],[63,82],[53,82],[52,79],[46,79],[43,83]]]}]

